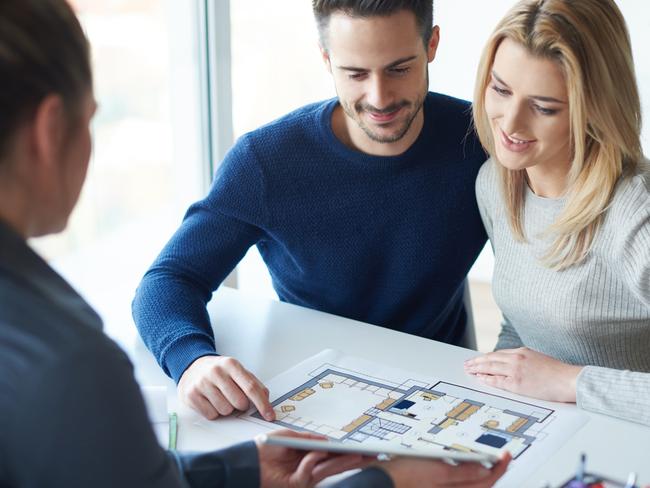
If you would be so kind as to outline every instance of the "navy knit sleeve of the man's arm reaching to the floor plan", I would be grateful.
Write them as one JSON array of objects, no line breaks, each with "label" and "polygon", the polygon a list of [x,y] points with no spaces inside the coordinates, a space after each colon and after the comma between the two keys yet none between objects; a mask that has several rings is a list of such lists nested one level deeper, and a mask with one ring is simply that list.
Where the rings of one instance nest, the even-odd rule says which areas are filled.
[{"label": "navy knit sleeve of the man's arm reaching to the floor plan", "polygon": [[226,156],[208,196],[189,208],[138,286],[135,324],[176,382],[194,360],[216,354],[206,304],[264,235],[264,200],[264,178],[244,137]]}]

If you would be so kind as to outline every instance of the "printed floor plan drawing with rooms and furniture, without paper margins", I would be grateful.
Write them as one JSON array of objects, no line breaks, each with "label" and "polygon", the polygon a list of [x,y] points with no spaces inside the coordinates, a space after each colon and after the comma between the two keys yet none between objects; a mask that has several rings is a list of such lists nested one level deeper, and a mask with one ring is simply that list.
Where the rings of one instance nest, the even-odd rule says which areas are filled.
[{"label": "printed floor plan drawing with rooms and furniture, without paper margins", "polygon": [[[553,410],[439,381],[400,385],[323,365],[273,402],[276,423],[342,442],[521,455]],[[260,418],[258,414],[254,414]]]}]

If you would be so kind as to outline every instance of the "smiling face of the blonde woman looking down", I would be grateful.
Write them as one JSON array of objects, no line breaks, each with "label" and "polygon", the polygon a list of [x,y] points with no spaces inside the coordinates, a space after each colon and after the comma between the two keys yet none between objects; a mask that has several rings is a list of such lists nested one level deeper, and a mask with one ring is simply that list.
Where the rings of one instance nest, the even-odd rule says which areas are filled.
[{"label": "smiling face of the blonde woman looking down", "polygon": [[496,157],[508,169],[566,172],[572,159],[566,82],[558,64],[499,45],[485,92]]}]

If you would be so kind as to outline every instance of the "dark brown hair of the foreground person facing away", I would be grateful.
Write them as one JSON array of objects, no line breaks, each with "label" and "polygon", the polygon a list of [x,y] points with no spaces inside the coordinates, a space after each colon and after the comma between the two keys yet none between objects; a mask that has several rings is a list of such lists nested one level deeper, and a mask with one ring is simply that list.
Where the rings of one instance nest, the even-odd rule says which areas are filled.
[{"label": "dark brown hair of the foreground person facing away", "polygon": [[48,95],[70,120],[92,86],[90,49],[65,0],[0,1],[0,161],[15,131]]}]

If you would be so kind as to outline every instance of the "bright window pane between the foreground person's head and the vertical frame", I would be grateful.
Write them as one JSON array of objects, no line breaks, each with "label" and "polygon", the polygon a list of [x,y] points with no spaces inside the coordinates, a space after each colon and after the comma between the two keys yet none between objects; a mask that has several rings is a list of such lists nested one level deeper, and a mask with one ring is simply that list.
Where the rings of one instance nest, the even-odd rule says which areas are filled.
[{"label": "bright window pane between the foreground person's head and the vertical frame", "polygon": [[203,192],[195,2],[71,3],[92,49],[93,154],[68,228],[33,245],[128,340],[139,279]]}]

